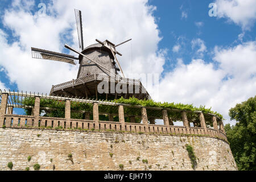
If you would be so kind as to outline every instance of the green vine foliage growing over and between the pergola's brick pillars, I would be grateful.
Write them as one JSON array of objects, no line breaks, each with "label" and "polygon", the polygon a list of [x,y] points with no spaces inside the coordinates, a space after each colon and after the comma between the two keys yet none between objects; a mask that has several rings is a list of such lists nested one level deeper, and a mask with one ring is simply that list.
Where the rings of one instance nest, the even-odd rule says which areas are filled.
[{"label": "green vine foliage growing over and between the pergola's brick pillars", "polygon": [[[174,104],[168,103],[168,102],[155,102],[153,100],[138,100],[135,97],[130,97],[129,99],[125,99],[123,97],[119,98],[118,100],[112,100],[112,102],[119,103],[119,104],[129,104],[129,105],[141,105],[146,107],[162,107],[166,109],[179,109],[179,110],[187,110],[187,111],[202,111],[205,114],[215,114],[221,119],[223,118],[221,114],[218,114],[211,110],[211,108],[207,109],[205,106],[195,107],[192,104]],[[26,98],[22,101],[23,105],[26,106],[34,106],[35,104],[35,98]],[[44,110],[46,111],[46,114],[44,117],[57,117],[57,118],[64,118],[65,117],[65,101],[58,101],[58,100],[49,100],[41,98],[40,100],[40,107],[49,107],[51,110]],[[99,105],[98,106],[100,113],[108,113],[108,114],[118,114],[118,107],[112,106],[112,105]],[[40,112],[43,109],[40,109]],[[93,105],[89,103],[83,103],[83,102],[71,102],[71,118],[73,119],[84,119],[85,113],[82,113],[81,111],[92,111]],[[25,109],[27,115],[31,115],[32,109]],[[141,109],[138,107],[124,107],[124,111],[127,115],[141,115]],[[148,110],[147,111],[148,117],[155,116],[155,117],[161,117],[162,113],[160,111],[155,110]],[[171,117],[173,121],[177,121],[180,119],[180,113],[175,111],[169,111],[168,117]],[[200,123],[198,119],[197,113],[188,112],[187,118],[189,121]],[[90,115],[90,119],[92,119],[92,115]],[[205,115],[205,121],[207,125],[211,124],[210,122],[210,116]],[[109,121],[108,115],[100,115],[100,121]],[[119,118],[117,116],[114,116],[114,121],[118,122]],[[130,122],[130,118],[125,117],[126,122]],[[140,123],[141,119],[135,117],[135,122]]]}]

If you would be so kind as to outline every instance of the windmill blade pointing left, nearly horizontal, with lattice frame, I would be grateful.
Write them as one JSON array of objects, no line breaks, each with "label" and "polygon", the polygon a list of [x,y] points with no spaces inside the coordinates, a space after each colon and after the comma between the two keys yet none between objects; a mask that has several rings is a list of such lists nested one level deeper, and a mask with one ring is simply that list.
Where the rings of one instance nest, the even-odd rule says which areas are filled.
[{"label": "windmill blade pointing left, nearly horizontal, with lattice frame", "polygon": [[75,56],[66,55],[64,53],[47,51],[44,49],[38,49],[34,47],[31,47],[31,51],[32,51],[32,58],[35,58],[35,59],[60,61],[60,62],[69,63],[73,65],[76,65],[75,60],[79,60],[79,58]]}]

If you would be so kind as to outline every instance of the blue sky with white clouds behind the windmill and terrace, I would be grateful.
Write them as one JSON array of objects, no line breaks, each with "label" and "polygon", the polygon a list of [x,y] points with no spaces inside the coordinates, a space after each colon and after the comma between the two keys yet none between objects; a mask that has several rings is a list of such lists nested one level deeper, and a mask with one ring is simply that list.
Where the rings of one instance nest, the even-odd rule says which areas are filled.
[{"label": "blue sky with white clouds behind the windmill and terrace", "polygon": [[158,89],[147,88],[154,100],[212,107],[234,124],[230,107],[255,96],[254,0],[2,0],[0,7],[1,89],[49,93],[76,78],[77,67],[31,59],[30,47],[71,53],[63,45],[78,45],[73,9],[80,9],[85,46],[133,38],[119,60],[126,75],[160,75]]}]

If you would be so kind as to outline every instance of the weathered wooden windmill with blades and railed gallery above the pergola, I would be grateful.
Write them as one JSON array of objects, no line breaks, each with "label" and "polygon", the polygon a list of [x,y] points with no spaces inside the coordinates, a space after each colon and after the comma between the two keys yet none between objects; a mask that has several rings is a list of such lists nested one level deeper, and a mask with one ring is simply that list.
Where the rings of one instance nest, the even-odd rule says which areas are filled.
[{"label": "weathered wooden windmill with blades and railed gallery above the pergola", "polygon": [[[144,89],[140,80],[134,80],[125,78],[122,68],[117,60],[117,56],[122,56],[116,50],[116,47],[129,42],[131,39],[126,40],[120,44],[113,44],[109,40],[101,42],[96,39],[96,44],[92,44],[84,48],[84,39],[82,33],[82,16],[80,10],[75,10],[77,33],[79,37],[79,48],[80,51],[69,47],[65,44],[65,48],[77,53],[79,56],[71,56],[64,53],[47,51],[44,49],[31,48],[32,57],[36,59],[46,59],[53,61],[61,61],[64,63],[69,63],[76,65],[76,61],[79,61],[80,67],[77,73],[77,79],[69,82],[65,82],[59,85],[53,85],[50,95],[52,96],[66,96],[66,97],[86,97],[86,98],[96,98],[112,100],[114,98],[124,97],[137,97],[139,99],[150,99],[150,95]],[[122,73],[122,76],[118,75],[118,72]],[[113,78],[114,75],[114,78]],[[102,80],[107,80],[109,85],[114,82],[117,85],[120,82],[127,83],[127,92],[117,93],[106,92],[104,94],[99,94],[97,91],[97,85],[100,84]],[[129,92],[128,88],[133,86],[133,92]],[[131,89],[130,89],[131,90]]]}]

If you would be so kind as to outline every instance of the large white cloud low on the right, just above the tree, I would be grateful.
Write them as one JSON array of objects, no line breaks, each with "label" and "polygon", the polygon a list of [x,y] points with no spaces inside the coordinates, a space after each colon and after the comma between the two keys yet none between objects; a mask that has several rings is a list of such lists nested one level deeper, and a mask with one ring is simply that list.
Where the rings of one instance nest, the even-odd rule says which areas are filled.
[{"label": "large white cloud low on the right, just above the tree", "polygon": [[[160,101],[205,105],[224,115],[237,103],[255,96],[256,42],[214,50],[214,63],[192,60],[185,65],[179,59],[174,71],[166,73],[159,88]],[[214,64],[218,64],[215,68]]]}]

